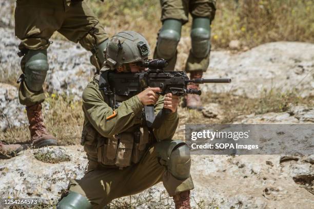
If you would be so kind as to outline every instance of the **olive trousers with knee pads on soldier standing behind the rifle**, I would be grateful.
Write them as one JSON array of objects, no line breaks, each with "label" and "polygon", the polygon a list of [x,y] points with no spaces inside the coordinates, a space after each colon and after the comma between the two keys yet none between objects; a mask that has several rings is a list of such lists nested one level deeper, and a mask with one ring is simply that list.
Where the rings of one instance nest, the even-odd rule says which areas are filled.
[{"label": "olive trousers with knee pads on soldier standing behind the rifle", "polygon": [[[209,65],[210,52],[210,23],[214,19],[216,10],[215,0],[160,0],[163,27],[154,50],[154,58],[165,58],[169,61],[166,70],[173,70],[176,62],[181,27],[188,22],[188,15],[193,18],[191,40],[192,49],[189,53],[185,70],[203,71]],[[201,20],[197,20],[197,18]],[[166,20],[177,22],[166,23]],[[204,22],[205,20],[205,22]],[[193,32],[193,29],[194,30]],[[199,30],[198,30],[199,29]],[[167,30],[171,30],[167,34]]]}]

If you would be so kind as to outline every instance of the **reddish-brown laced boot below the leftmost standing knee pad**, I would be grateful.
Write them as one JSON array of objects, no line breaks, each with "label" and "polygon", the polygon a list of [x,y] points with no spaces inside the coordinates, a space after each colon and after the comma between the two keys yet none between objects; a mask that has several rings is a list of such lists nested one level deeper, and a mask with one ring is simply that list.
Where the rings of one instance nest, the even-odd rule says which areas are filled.
[{"label": "reddish-brown laced boot below the leftmost standing knee pad", "polygon": [[26,107],[26,113],[33,147],[42,148],[56,145],[56,138],[46,130],[42,115],[42,105],[38,104]]}]

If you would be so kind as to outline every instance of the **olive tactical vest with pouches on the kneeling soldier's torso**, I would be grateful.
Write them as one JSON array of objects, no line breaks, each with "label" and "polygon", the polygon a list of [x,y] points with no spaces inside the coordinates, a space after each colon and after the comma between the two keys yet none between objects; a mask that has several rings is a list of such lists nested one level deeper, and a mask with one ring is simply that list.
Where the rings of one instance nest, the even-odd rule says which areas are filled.
[{"label": "olive tactical vest with pouches on the kneeling soldier's torso", "polygon": [[[94,76],[94,81],[99,82],[99,75]],[[101,93],[104,101],[109,105],[104,92]],[[115,105],[119,106],[127,99],[127,97],[116,95]],[[108,138],[98,133],[89,121],[85,121],[81,144],[84,145],[88,159],[97,161],[107,168],[123,169],[138,163],[153,141],[147,126],[142,123],[142,118],[142,116],[136,118],[137,124],[127,131]]]}]

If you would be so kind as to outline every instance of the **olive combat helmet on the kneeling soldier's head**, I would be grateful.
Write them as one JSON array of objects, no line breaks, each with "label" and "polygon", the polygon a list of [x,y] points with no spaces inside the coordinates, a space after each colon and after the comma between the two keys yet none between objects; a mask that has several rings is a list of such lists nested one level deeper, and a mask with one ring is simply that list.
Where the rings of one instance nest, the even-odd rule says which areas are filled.
[{"label": "olive combat helmet on the kneeling soldier's head", "polygon": [[134,31],[122,31],[113,35],[105,52],[106,65],[114,70],[124,64],[144,61],[151,51],[147,40]]}]

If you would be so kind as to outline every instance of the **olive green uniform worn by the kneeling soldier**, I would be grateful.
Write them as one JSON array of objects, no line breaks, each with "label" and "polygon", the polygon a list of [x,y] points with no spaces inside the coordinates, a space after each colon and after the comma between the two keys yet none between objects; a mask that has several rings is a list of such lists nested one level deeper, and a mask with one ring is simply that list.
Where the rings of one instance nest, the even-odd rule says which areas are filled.
[{"label": "olive green uniform worn by the kneeling soldier", "polygon": [[[186,180],[174,178],[160,164],[156,154],[156,142],[173,137],[178,114],[167,115],[161,127],[153,129],[152,137],[148,128],[142,125],[143,105],[137,96],[121,102],[113,117],[113,110],[105,101],[106,97],[94,79],[83,92],[82,139],[89,159],[88,171],[81,180],[70,180],[69,190],[87,197],[93,208],[102,208],[115,198],[139,193],[161,181],[170,196],[192,190],[191,177]],[[160,96],[155,114],[163,108],[163,102],[164,97]],[[131,142],[129,136],[139,127],[143,130],[140,141]],[[113,135],[118,133],[122,133],[119,144],[114,144]]]}]

